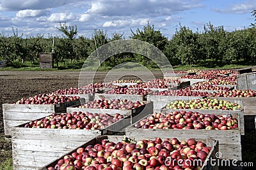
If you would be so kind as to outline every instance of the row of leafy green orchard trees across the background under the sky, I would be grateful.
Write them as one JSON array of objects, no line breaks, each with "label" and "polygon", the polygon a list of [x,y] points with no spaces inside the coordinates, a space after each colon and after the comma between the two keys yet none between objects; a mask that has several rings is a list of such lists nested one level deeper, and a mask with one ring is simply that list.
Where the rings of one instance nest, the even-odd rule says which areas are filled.
[{"label": "row of leafy green orchard trees across the background under the sky", "polygon": [[[253,11],[256,17],[256,11]],[[123,34],[113,33],[111,37],[106,31],[95,30],[91,38],[77,37],[77,27],[60,24],[59,31],[63,37],[56,37],[54,44],[54,60],[58,64],[65,60],[85,60],[96,48],[124,39]],[[232,64],[237,60],[255,62],[256,57],[256,27],[232,32],[225,31],[223,26],[214,27],[211,23],[205,25],[204,31],[193,32],[189,27],[180,25],[172,38],[168,39],[154,25],[149,23],[143,29],[131,31],[131,39],[146,41],[161,50],[171,64],[195,64],[198,60],[214,60],[216,63]],[[13,29],[13,35],[0,34],[0,60],[9,64],[15,62],[39,59],[40,52],[51,52],[53,36],[24,36]],[[135,53],[122,53],[109,58],[106,62],[115,66],[124,61],[138,61],[145,66],[151,62],[147,57]]]}]

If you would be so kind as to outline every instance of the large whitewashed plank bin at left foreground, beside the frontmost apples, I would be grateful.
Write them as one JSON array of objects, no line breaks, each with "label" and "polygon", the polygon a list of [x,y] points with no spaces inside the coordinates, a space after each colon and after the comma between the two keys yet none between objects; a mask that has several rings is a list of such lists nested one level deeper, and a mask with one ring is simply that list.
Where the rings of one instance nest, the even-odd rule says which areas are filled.
[{"label": "large whitewashed plank bin at left foreground, beside the frontmost apples", "polygon": [[129,117],[124,115],[122,120],[100,130],[25,128],[25,124],[13,127],[13,169],[39,169],[101,134],[121,131],[130,125],[126,121]]}]

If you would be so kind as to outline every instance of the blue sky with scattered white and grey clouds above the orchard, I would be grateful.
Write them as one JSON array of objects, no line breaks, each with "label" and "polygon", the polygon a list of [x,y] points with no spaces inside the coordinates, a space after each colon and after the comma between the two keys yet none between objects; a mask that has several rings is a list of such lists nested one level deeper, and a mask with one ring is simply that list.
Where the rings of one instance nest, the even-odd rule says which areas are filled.
[{"label": "blue sky with scattered white and grey clouds above the orchard", "polygon": [[256,22],[256,0],[0,0],[0,33],[61,36],[60,23],[77,25],[77,36],[92,38],[95,29],[131,36],[131,30],[154,25],[172,38],[179,24],[192,31],[211,22],[226,31]]}]

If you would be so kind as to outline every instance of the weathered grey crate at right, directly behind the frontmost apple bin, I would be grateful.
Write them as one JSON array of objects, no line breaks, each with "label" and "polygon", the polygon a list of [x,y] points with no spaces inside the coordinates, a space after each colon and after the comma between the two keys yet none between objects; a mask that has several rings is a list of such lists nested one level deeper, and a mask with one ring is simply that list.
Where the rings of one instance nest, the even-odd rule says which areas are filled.
[{"label": "weathered grey crate at right, directly behind the frontmost apple bin", "polygon": [[[193,110],[191,110],[193,111]],[[168,111],[166,111],[167,113]],[[227,112],[219,110],[199,110],[199,113],[209,113],[214,115],[226,115]],[[134,125],[125,129],[127,136],[147,136],[159,138],[202,138],[216,139],[219,141],[220,152],[223,154],[221,159],[237,159],[242,160],[241,135],[244,134],[243,112],[231,114],[238,120],[238,129],[227,131],[221,130],[194,130],[194,129],[136,129]],[[145,117],[146,118],[146,117]],[[138,121],[139,122],[139,121]]]}]

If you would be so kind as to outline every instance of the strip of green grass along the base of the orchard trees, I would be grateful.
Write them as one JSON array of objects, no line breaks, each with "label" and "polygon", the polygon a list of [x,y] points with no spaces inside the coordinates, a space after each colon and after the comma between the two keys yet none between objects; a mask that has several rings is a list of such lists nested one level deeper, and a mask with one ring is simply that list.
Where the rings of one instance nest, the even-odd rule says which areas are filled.
[{"label": "strip of green grass along the base of the orchard trees", "polygon": [[[220,62],[214,60],[200,60],[197,64],[172,67],[175,71],[186,71],[188,69],[239,69],[255,65],[243,60],[236,61],[236,63],[237,64],[220,64]],[[54,64],[53,69],[40,69],[39,65],[39,62],[35,62],[34,64],[32,62],[24,62],[24,64],[14,62],[12,66],[0,68],[0,71],[81,71],[83,66],[84,71],[127,71],[127,69],[131,71],[160,71],[156,64],[145,67],[138,62],[125,62],[115,67],[109,66],[108,62],[103,62],[102,67],[99,67],[97,60],[94,62],[88,60],[86,60],[86,62],[84,62],[84,60],[74,60],[72,63],[66,60],[65,62],[60,62],[58,67]]]}]

